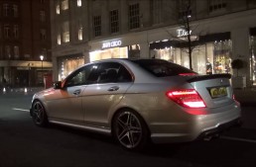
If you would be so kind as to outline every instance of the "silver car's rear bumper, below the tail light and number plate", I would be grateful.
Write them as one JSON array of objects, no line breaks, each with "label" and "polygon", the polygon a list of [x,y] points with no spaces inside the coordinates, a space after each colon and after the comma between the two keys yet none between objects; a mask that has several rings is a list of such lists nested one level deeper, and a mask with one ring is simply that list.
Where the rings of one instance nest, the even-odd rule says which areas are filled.
[{"label": "silver car's rear bumper, below the tail light and number plate", "polygon": [[151,139],[155,143],[190,142],[211,137],[232,126],[241,125],[241,109],[234,103],[217,108],[212,113],[214,114],[188,115],[184,122],[151,125],[151,129],[154,129],[151,130]]}]

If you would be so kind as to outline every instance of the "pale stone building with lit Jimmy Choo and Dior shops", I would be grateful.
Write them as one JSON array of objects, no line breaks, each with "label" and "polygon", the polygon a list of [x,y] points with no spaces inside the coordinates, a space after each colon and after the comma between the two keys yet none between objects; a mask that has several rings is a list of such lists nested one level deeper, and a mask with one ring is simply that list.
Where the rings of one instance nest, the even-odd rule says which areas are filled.
[{"label": "pale stone building with lit Jimmy Choo and Dior shops", "polygon": [[[55,0],[51,12],[55,80],[104,58],[162,58],[190,67],[190,35],[194,71],[238,74],[246,87],[256,85],[254,0]],[[238,72],[234,59],[244,64]]]}]

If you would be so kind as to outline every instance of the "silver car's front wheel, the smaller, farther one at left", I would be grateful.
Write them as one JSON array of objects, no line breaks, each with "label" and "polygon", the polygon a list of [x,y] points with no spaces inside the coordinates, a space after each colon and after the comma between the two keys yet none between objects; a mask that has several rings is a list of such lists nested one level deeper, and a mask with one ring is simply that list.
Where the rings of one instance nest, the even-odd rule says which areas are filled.
[{"label": "silver car's front wheel, the smaller, farther one at left", "polygon": [[40,101],[35,101],[32,105],[32,119],[35,125],[47,126],[49,124],[46,110]]}]

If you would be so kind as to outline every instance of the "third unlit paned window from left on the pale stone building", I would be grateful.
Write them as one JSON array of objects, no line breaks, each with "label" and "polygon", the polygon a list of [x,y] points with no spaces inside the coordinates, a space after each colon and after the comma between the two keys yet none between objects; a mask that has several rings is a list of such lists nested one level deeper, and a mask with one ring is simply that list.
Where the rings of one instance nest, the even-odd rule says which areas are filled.
[{"label": "third unlit paned window from left on the pale stone building", "polygon": [[129,28],[140,28],[140,5],[132,4],[129,6]]}]

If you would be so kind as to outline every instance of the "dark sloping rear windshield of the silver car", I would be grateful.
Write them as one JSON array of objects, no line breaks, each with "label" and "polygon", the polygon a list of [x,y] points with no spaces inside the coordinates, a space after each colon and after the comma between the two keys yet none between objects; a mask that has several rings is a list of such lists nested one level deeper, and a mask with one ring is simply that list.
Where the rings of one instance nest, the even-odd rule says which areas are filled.
[{"label": "dark sloping rear windshield of the silver car", "polygon": [[132,61],[157,77],[196,74],[189,68],[163,59],[136,59]]}]

